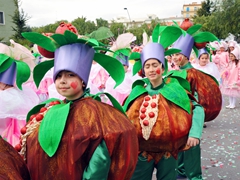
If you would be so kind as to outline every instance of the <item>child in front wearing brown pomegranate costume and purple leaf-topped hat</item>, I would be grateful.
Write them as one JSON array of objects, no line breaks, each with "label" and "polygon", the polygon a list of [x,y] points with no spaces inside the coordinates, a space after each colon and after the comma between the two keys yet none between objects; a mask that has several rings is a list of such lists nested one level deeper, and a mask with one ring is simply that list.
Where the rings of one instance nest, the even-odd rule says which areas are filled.
[{"label": "child in front wearing brown pomegranate costume and purple leaf-topped hat", "polygon": [[[38,36],[44,38],[37,33],[24,36],[33,42]],[[97,53],[89,39],[78,39],[70,31],[51,37],[54,42],[43,44],[46,48],[58,44],[52,49],[54,60],[50,61],[54,61],[56,89],[66,99],[50,99],[29,112],[20,154],[32,179],[129,180],[137,162],[135,129],[114,98],[113,105],[118,109],[95,100],[86,88],[93,59],[114,80],[124,75],[121,63]],[[96,47],[97,43],[92,45]],[[49,61],[40,63],[34,77],[44,69],[38,67],[52,65]]]}]

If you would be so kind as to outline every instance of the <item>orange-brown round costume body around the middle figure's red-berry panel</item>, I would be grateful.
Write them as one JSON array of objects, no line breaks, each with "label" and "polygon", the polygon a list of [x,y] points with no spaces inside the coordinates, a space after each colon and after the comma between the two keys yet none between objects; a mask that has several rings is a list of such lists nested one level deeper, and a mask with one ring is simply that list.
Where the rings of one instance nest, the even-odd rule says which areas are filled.
[{"label": "orange-brown round costume body around the middle figure's red-berry panel", "polygon": [[192,124],[192,115],[174,103],[166,100],[161,94],[158,101],[158,118],[153,126],[150,138],[145,140],[139,120],[139,110],[147,94],[139,96],[127,110],[128,118],[133,121],[139,140],[139,151],[146,151],[155,161],[163,154],[170,152],[177,158],[179,151],[186,145]]}]

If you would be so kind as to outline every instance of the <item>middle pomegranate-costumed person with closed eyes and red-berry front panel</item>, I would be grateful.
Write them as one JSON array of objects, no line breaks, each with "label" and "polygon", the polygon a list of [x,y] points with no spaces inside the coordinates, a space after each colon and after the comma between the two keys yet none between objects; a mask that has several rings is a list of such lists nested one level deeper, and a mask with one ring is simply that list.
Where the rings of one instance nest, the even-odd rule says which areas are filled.
[{"label": "middle pomegranate-costumed person with closed eyes and red-berry front panel", "polygon": [[148,43],[140,60],[147,78],[134,82],[124,104],[139,141],[138,163],[131,179],[151,180],[156,168],[158,180],[175,180],[178,152],[189,148],[193,104],[177,80],[163,79],[163,45]]}]

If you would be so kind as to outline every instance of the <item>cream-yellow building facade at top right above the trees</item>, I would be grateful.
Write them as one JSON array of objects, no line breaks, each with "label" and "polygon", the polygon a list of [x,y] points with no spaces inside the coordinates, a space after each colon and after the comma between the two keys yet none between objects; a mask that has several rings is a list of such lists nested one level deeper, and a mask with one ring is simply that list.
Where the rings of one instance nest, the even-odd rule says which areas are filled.
[{"label": "cream-yellow building facade at top right above the trees", "polygon": [[191,19],[193,16],[197,15],[197,11],[200,8],[202,8],[202,4],[198,4],[197,2],[192,2],[192,4],[184,4],[181,12],[182,17]]}]

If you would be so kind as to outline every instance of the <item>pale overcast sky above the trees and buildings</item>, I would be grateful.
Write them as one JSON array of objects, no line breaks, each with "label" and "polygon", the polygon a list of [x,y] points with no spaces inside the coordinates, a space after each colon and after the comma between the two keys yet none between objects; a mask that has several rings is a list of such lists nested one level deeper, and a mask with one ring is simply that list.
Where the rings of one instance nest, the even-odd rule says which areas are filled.
[{"label": "pale overcast sky above the trees and buildings", "polygon": [[[159,18],[181,16],[183,4],[201,3],[202,0],[21,0],[20,8],[30,17],[28,25],[39,27],[59,20],[72,21],[85,17],[113,20],[116,17]],[[127,8],[128,12],[124,10]]]}]

